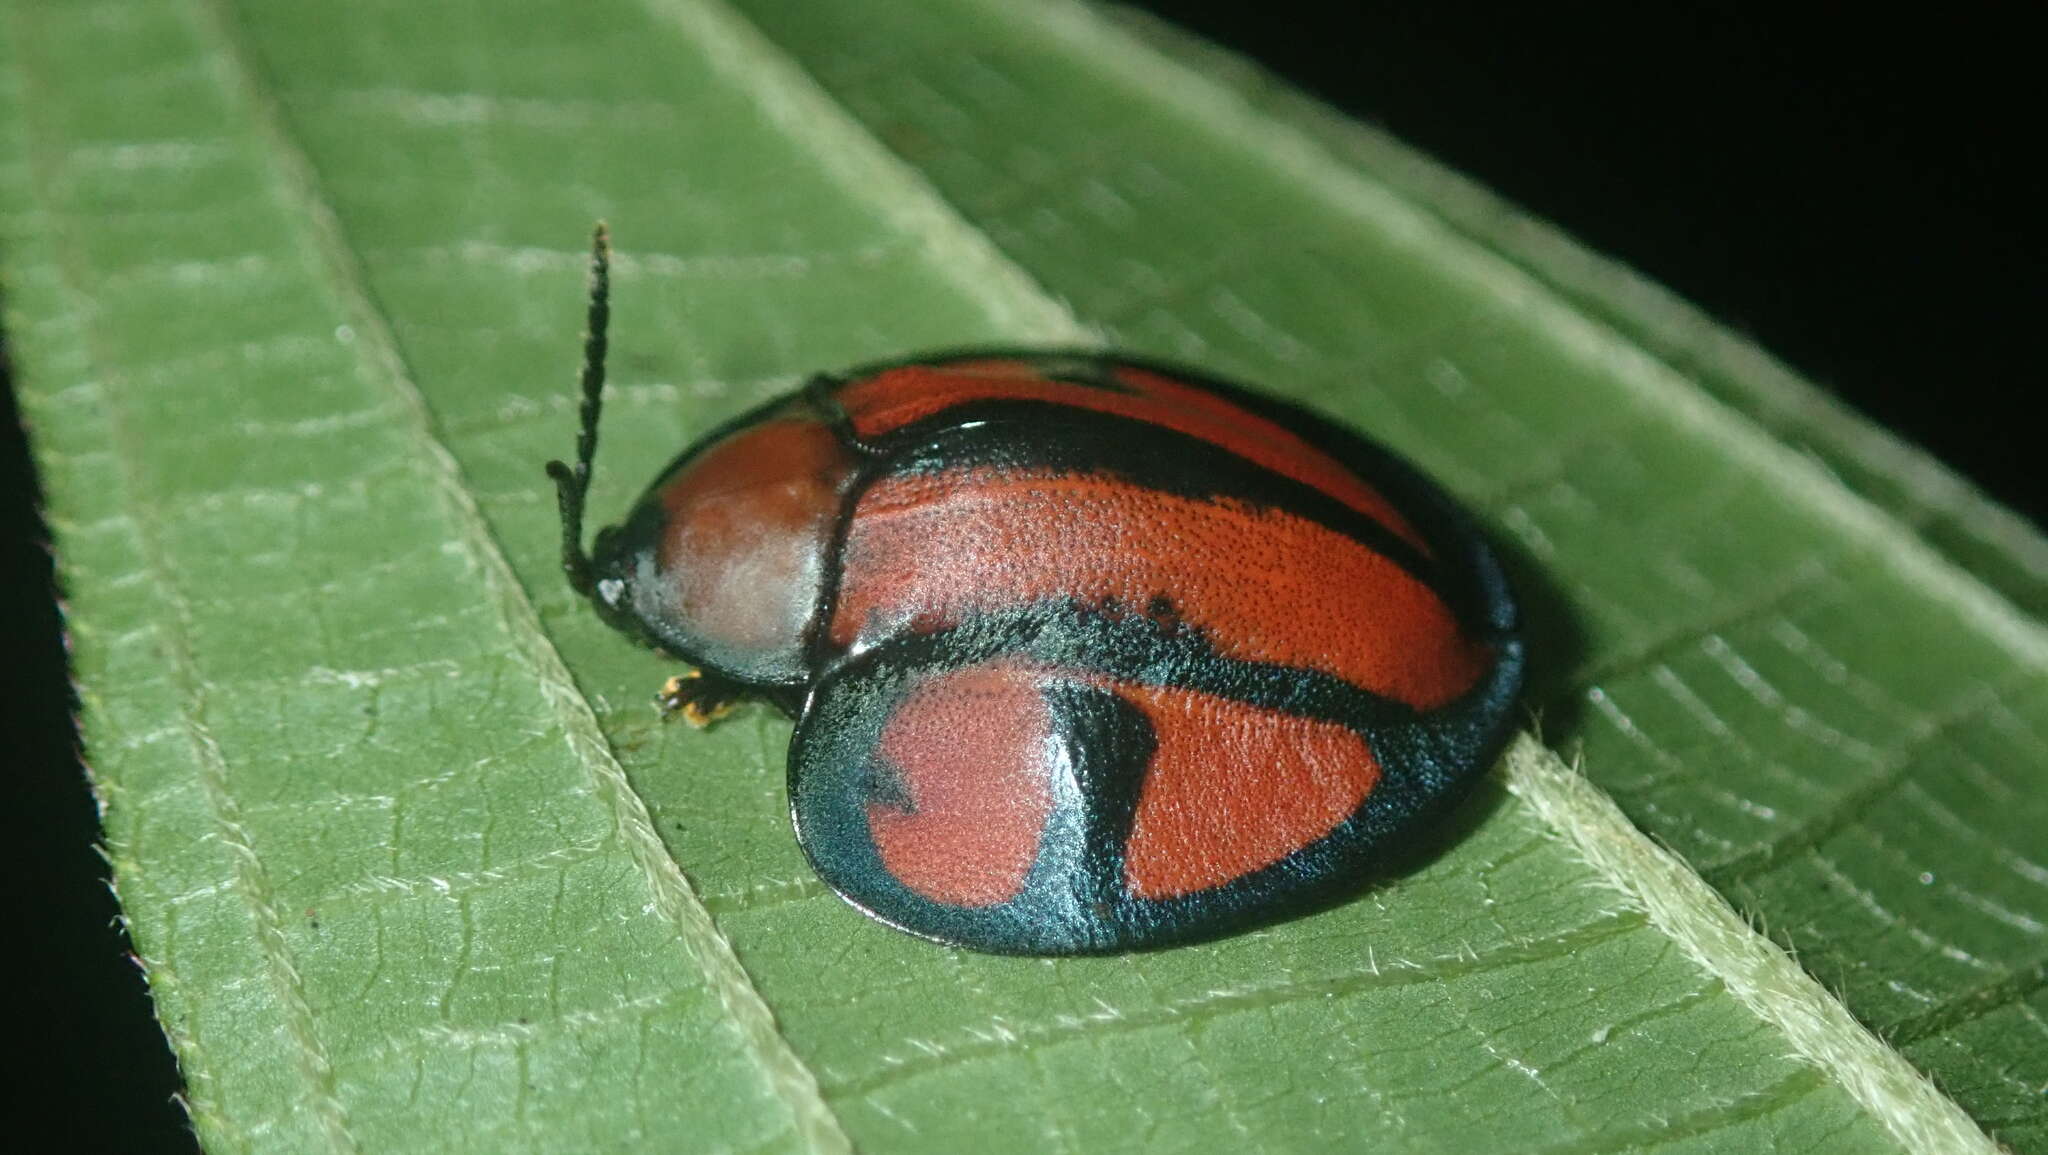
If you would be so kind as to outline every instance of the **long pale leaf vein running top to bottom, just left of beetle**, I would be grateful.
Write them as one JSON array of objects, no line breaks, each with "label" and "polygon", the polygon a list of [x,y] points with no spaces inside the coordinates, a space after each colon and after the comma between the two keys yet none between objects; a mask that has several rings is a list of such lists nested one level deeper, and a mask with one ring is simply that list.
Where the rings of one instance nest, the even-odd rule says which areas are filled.
[{"label": "long pale leaf vein running top to bottom, just left of beetle", "polygon": [[356,346],[367,369],[383,381],[408,416],[408,430],[426,473],[461,526],[461,543],[471,555],[485,594],[498,606],[516,649],[530,661],[543,698],[555,709],[563,735],[578,762],[588,770],[598,799],[608,807],[618,838],[639,868],[653,897],[653,907],[674,928],[684,950],[698,965],[705,981],[719,997],[729,1022],[748,1040],[764,1077],[788,1106],[793,1122],[811,1151],[852,1151],[838,1116],[817,1089],[817,1077],[797,1057],[774,1024],[774,1014],[760,997],[731,942],[711,922],[696,899],[690,881],[655,833],[645,803],[627,782],[625,770],[612,758],[596,713],[575,686],[575,678],[549,641],[541,616],[512,573],[504,551],[492,537],[483,510],[463,481],[463,469],[434,430],[434,416],[412,379],[397,336],[391,332],[360,270],[346,231],[319,186],[311,160],[291,137],[287,117],[268,82],[260,76],[254,53],[242,43],[231,0],[199,0],[201,25],[215,45],[215,68],[223,82],[252,111],[252,121],[274,164],[279,190],[303,217],[317,270],[354,322]]}]

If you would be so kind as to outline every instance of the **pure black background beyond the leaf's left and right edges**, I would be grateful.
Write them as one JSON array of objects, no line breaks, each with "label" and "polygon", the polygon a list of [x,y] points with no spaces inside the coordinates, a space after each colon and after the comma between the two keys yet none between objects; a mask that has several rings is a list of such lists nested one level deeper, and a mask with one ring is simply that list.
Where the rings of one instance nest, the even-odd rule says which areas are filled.
[{"label": "pure black background beyond the leaf's left and right edges", "polygon": [[[1147,6],[1634,264],[2040,516],[2042,186],[2021,168],[2042,100],[2019,6],[1911,23],[1868,8]],[[10,408],[0,483],[18,1130],[45,1114],[72,1149],[188,1145],[111,930]]]}]

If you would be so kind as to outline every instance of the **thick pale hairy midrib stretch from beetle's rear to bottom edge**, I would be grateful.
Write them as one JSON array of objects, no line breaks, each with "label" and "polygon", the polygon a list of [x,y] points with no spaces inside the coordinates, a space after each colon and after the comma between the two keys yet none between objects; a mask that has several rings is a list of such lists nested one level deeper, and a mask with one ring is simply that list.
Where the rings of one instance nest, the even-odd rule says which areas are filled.
[{"label": "thick pale hairy midrib stretch from beetle's rear to bottom edge", "polygon": [[1610,887],[1726,983],[1729,993],[1784,1034],[1800,1057],[1839,1081],[1907,1151],[1997,1151],[1954,1100],[1870,1034],[1841,999],[1556,754],[1522,735],[1509,745],[1503,768],[1507,788]]}]

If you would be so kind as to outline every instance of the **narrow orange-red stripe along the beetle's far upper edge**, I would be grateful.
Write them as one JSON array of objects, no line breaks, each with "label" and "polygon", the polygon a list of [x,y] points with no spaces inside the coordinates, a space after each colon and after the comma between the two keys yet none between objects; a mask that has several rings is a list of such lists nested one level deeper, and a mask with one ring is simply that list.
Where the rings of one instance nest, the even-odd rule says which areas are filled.
[{"label": "narrow orange-red stripe along the beetle's far upper edge", "polygon": [[1159,373],[1118,369],[1116,379],[1139,393],[1112,393],[1049,381],[1022,360],[954,360],[885,369],[842,387],[838,399],[860,436],[899,430],[952,405],[987,399],[1055,401],[1077,410],[1137,418],[1206,440],[1282,477],[1313,485],[1430,555],[1421,534],[1409,526],[1393,502],[1337,459],[1286,428],[1206,389]]}]

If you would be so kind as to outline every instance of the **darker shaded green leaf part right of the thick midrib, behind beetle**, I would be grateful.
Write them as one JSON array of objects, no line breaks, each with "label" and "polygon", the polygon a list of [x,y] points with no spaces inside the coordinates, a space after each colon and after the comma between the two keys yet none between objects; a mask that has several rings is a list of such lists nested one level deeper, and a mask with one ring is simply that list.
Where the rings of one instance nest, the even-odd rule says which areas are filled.
[{"label": "darker shaded green leaf part right of the thick midrib, behind beetle", "polygon": [[1067,6],[741,8],[1118,344],[1298,381],[1456,479],[1575,627],[1536,655],[1546,737],[2001,1135],[2048,1143],[2048,643],[1985,590],[2048,604],[2038,534],[1186,39]]}]

